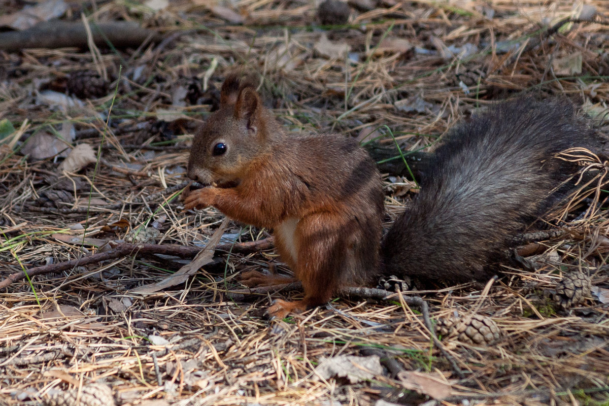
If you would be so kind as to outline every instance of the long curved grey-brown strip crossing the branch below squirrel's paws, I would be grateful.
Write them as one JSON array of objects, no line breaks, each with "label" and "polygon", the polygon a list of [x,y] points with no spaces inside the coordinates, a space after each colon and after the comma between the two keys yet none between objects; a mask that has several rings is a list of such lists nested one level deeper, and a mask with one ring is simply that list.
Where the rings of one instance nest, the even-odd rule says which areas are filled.
[{"label": "long curved grey-brown strip crossing the branch below squirrel's paws", "polygon": [[211,236],[211,238],[208,240],[205,247],[203,247],[203,249],[201,251],[199,251],[199,254],[197,254],[197,256],[194,257],[194,259],[192,260],[192,262],[190,264],[184,265],[176,273],[168,276],[167,278],[165,278],[159,282],[137,287],[136,289],[133,289],[131,292],[141,293],[143,295],[150,295],[151,293],[158,292],[161,289],[165,289],[167,287],[172,287],[175,285],[179,285],[183,282],[186,282],[188,280],[188,278],[190,278],[191,275],[194,275],[195,273],[197,273],[199,268],[201,268],[203,265],[209,264],[209,262],[211,262],[211,260],[214,257],[214,248],[220,242],[220,237],[222,237],[222,234],[224,234],[224,230],[227,228],[227,224],[228,224],[228,218],[224,219],[224,222],[222,222],[222,224],[216,230],[214,235]]}]

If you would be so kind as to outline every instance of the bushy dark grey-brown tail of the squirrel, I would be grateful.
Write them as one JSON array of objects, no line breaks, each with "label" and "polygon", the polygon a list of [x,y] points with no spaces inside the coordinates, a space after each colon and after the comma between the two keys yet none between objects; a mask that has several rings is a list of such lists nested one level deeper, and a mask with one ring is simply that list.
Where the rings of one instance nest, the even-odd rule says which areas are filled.
[{"label": "bushy dark grey-brown tail of the squirrel", "polygon": [[572,104],[558,99],[499,103],[452,128],[420,193],[382,243],[385,273],[487,278],[488,265],[504,257],[515,234],[557,200],[576,171],[555,155],[591,149],[594,139]]}]

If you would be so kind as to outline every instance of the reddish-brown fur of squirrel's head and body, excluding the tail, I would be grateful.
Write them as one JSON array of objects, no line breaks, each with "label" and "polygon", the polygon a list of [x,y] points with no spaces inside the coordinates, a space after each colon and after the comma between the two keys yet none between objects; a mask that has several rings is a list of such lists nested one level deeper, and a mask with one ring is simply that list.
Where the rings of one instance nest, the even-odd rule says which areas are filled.
[{"label": "reddish-brown fur of squirrel's head and body, excluding the tail", "polygon": [[[236,75],[222,86],[220,109],[194,138],[188,176],[204,184],[186,208],[214,206],[229,217],[275,229],[281,258],[305,290],[296,303],[278,301],[269,312],[326,303],[339,287],[365,283],[378,269],[381,181],[356,142],[334,134],[287,134]],[[213,156],[214,145],[228,145]],[[290,237],[290,225],[295,228]],[[264,278],[250,273],[250,284]]]}]

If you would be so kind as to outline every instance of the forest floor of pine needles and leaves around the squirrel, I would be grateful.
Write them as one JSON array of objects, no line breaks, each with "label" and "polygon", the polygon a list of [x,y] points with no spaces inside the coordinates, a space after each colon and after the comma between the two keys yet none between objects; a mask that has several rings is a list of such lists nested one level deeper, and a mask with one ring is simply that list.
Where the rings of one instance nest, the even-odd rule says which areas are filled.
[{"label": "forest floor of pine needles and leaves around the squirrel", "polygon": [[[301,293],[237,278],[288,271],[269,231],[228,222],[217,242],[224,216],[180,199],[192,134],[235,66],[261,74],[290,130],[405,153],[526,91],[574,100],[609,134],[608,2],[318,6],[0,1],[0,405],[609,405],[600,186],[487,285],[273,321],[272,298]],[[71,25],[27,30],[52,17]],[[384,186],[389,226],[416,191]],[[210,238],[202,270],[176,277]]]}]

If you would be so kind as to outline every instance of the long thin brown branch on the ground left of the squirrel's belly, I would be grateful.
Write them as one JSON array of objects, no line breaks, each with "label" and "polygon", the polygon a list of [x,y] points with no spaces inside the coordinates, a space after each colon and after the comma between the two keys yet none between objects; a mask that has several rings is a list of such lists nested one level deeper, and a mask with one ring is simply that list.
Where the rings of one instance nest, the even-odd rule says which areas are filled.
[{"label": "long thin brown branch on the ground left of the squirrel's belly", "polygon": [[[271,247],[273,247],[273,239],[269,237],[258,241],[219,244],[216,245],[215,251],[248,254],[256,251],[268,250]],[[201,248],[199,247],[184,247],[183,245],[119,243],[110,251],[106,251],[104,253],[96,253],[77,259],[72,259],[71,261],[58,262],[57,264],[43,265],[41,267],[15,272],[12,275],[9,275],[6,279],[0,281],[0,289],[4,289],[16,281],[21,281],[21,279],[26,277],[26,275],[31,278],[32,276],[43,275],[46,273],[57,273],[75,267],[82,267],[83,265],[99,264],[99,262],[108,261],[109,259],[117,259],[130,255],[140,256],[144,254],[165,254],[178,257],[194,257],[199,253],[199,251],[201,251]]]}]

